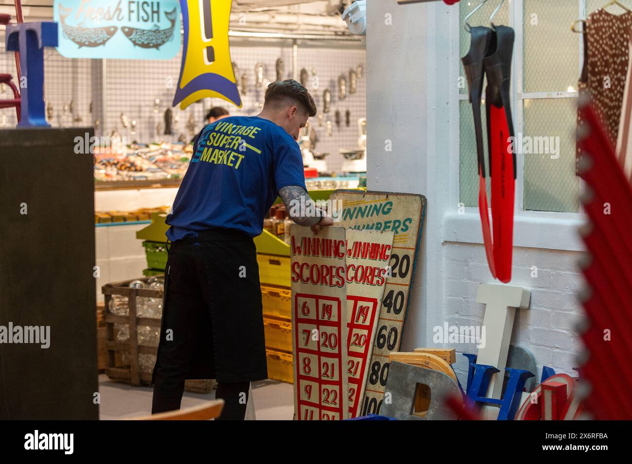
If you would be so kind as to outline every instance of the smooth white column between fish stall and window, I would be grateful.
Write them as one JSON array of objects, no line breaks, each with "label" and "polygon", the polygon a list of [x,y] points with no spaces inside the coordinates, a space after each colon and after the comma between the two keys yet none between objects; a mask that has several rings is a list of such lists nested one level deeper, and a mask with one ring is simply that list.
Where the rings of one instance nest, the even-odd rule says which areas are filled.
[{"label": "smooth white column between fish stall and window", "polygon": [[454,164],[451,157],[458,144],[458,14],[443,2],[367,2],[368,189],[428,199],[402,351],[426,346],[432,327],[444,322],[441,222],[458,207],[451,195],[451,182],[458,183],[458,158]]}]

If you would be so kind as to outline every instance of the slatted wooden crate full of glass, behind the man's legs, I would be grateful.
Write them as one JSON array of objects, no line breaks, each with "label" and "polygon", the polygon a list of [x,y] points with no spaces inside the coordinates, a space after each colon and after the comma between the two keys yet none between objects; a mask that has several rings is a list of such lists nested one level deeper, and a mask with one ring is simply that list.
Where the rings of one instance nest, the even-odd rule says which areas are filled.
[{"label": "slatted wooden crate full of glass, behind the man's legs", "polygon": [[[142,282],[149,280],[138,279]],[[139,354],[156,355],[157,347],[150,345],[140,345],[138,343],[138,326],[150,326],[159,328],[161,320],[155,318],[139,318],[137,316],[137,298],[149,297],[162,299],[164,292],[155,289],[130,289],[129,285],[133,280],[125,282],[107,283],[101,289],[105,295],[105,308],[103,321],[106,323],[106,350],[107,350],[107,376],[116,382],[129,383],[134,386],[149,385],[152,380],[152,372],[141,372],[138,362]],[[120,316],[110,312],[110,301],[112,295],[120,295],[128,299],[128,314]],[[130,329],[130,336],[125,342],[116,340],[114,334],[114,324],[126,324]],[[130,359],[129,366],[123,366],[122,354],[127,352]],[[191,379],[185,382],[185,390],[195,393],[210,393],[215,386],[215,382],[210,379]]]}]

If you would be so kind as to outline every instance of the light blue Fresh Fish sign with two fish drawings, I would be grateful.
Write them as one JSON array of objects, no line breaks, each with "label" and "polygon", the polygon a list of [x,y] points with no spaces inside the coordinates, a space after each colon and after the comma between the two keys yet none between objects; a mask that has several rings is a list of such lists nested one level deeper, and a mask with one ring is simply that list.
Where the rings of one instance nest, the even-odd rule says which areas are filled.
[{"label": "light blue Fresh Fish sign with two fish drawings", "polygon": [[178,0],[54,0],[67,58],[171,59],[180,50]]}]

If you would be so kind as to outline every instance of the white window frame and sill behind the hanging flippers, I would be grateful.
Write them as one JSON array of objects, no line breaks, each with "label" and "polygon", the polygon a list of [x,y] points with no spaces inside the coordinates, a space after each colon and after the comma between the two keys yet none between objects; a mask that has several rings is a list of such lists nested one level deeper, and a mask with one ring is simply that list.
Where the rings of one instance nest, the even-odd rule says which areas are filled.
[{"label": "white window frame and sill behind the hanging flippers", "polygon": [[[478,4],[478,0],[472,0]],[[499,0],[498,0],[499,1]],[[585,18],[585,0],[578,1],[578,15]],[[516,32],[516,42],[514,45],[514,57],[512,65],[512,89],[511,107],[514,118],[516,133],[523,132],[524,128],[524,100],[542,98],[574,98],[577,92],[522,92],[523,88],[523,0],[507,0],[509,8],[509,26]],[[454,82],[459,78],[459,61],[461,59],[459,50],[459,34],[463,27],[459,21],[458,8],[454,8],[451,18],[451,74]],[[579,16],[578,16],[579,17]],[[571,20],[572,21],[572,20]],[[570,24],[570,21],[569,21]],[[569,32],[570,33],[570,32]],[[580,52],[581,52],[581,37]],[[577,71],[580,76],[580,69]],[[460,136],[459,136],[459,104],[468,99],[467,94],[461,94],[457,85],[453,86],[454,92],[451,95],[452,117],[451,137],[456,141],[451,153],[451,172],[460,171]],[[572,130],[572,128],[569,128]],[[516,205],[514,217],[514,247],[533,247],[540,249],[557,249],[566,251],[583,251],[585,247],[578,234],[578,227],[585,223],[585,215],[579,213],[558,213],[549,211],[525,211],[524,205],[524,157],[516,156],[518,164],[518,178],[516,179]],[[451,204],[459,205],[460,185],[459,175],[456,175],[456,182],[450,182]],[[461,208],[463,211],[463,208]],[[482,243],[480,231],[480,215],[478,207],[466,207],[465,214],[459,213],[459,208],[450,208],[446,211],[443,219],[444,241],[447,242],[467,242]]]}]

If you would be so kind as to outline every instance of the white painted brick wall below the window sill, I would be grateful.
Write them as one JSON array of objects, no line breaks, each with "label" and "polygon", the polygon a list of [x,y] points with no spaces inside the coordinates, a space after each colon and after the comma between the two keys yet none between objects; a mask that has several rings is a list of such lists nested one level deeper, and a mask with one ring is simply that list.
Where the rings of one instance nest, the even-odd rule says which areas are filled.
[{"label": "white painted brick wall below the window sill", "polygon": [[[580,253],[568,251],[514,250],[510,285],[531,290],[531,306],[516,313],[511,343],[533,353],[538,382],[542,366],[576,376],[573,367],[578,365],[576,355],[581,349],[576,324],[582,318],[576,292],[583,285],[576,265],[579,257]],[[476,302],[477,288],[480,283],[493,282],[482,245],[446,243],[443,258],[444,307],[428,311],[428,342],[432,340],[432,327],[442,326],[446,321],[459,326],[482,324],[484,308]],[[537,277],[532,277],[531,266],[537,266]],[[458,362],[454,367],[461,382],[465,382],[467,360],[462,353],[475,353],[476,347],[458,345],[456,348]]]}]

